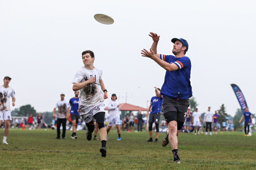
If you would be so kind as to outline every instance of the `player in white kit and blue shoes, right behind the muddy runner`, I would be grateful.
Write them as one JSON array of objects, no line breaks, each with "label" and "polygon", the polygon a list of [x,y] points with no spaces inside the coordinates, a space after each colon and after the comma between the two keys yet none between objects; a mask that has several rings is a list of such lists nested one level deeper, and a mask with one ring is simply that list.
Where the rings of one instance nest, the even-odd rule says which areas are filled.
[{"label": "player in white kit and blue shoes, right behind the muddy runner", "polygon": [[116,124],[117,134],[118,138],[117,140],[121,140],[121,129],[120,129],[120,104],[118,101],[116,101],[116,94],[112,94],[111,101],[108,102],[108,109],[109,109],[109,115],[108,115],[108,128],[107,133],[111,129],[111,127]]}]

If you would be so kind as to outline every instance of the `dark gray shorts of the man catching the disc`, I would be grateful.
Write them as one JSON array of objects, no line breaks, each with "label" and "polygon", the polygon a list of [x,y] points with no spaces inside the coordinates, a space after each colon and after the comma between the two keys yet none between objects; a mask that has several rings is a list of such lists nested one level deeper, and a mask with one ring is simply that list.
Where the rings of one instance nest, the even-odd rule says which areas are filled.
[{"label": "dark gray shorts of the man catching the disc", "polygon": [[185,122],[187,111],[189,106],[189,99],[172,99],[164,96],[163,99],[163,107],[164,114],[170,111],[177,112],[177,116],[175,115],[175,121],[179,120],[180,122]]}]

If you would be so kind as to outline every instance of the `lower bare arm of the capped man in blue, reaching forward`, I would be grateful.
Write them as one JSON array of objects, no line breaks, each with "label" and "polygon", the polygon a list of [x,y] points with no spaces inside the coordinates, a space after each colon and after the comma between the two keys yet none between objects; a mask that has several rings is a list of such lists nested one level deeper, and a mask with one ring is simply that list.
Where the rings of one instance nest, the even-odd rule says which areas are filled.
[{"label": "lower bare arm of the capped man in blue, reaching forward", "polygon": [[[150,48],[150,51],[147,51],[145,48],[142,51],[142,55],[143,57],[148,57],[151,58],[152,60],[154,60],[158,65],[160,65],[161,67],[163,67],[165,70],[167,71],[174,71],[174,70],[178,70],[178,66],[174,63],[170,64],[167,63],[163,60],[160,59],[160,57],[157,57],[154,53],[154,51]],[[160,55],[159,55],[160,56]]]}]

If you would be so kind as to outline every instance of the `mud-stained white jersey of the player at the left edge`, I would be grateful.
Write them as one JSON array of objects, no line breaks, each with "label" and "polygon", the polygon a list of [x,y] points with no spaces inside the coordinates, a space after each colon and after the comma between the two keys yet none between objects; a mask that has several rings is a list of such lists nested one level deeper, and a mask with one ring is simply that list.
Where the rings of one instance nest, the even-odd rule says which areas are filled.
[{"label": "mud-stained white jersey of the player at the left edge", "polygon": [[12,87],[5,88],[3,85],[0,86],[0,100],[1,104],[0,105],[0,110],[1,111],[8,111],[11,110],[10,107],[10,97],[14,98],[15,97],[15,92],[12,89]]}]

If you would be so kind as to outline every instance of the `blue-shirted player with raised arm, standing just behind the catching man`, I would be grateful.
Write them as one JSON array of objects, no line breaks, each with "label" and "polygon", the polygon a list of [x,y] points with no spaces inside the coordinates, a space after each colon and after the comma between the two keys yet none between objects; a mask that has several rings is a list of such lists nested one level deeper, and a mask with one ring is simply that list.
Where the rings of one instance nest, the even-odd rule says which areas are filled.
[{"label": "blue-shirted player with raised arm, standing just behind the catching man", "polygon": [[[148,107],[149,119],[148,119],[148,132],[149,132],[149,139],[146,142],[153,142],[152,135],[153,130],[152,126],[155,122],[156,124],[156,139],[154,142],[158,142],[158,136],[159,136],[159,122],[160,122],[160,115],[161,115],[161,106],[163,103],[163,96],[160,95],[160,89],[157,87],[154,87],[156,90],[156,96],[153,96],[150,100],[150,105]],[[146,117],[148,117],[148,112],[146,113]]]}]

